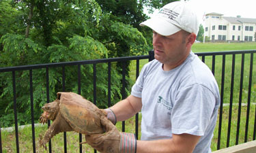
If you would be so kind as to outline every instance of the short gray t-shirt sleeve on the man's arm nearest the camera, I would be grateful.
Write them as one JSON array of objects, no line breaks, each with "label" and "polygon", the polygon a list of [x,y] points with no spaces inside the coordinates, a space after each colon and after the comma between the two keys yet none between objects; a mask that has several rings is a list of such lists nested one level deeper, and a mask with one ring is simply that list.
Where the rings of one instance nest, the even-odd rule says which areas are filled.
[{"label": "short gray t-shirt sleeve on the man's arm nearest the camera", "polygon": [[201,84],[193,84],[179,90],[171,112],[172,133],[204,135],[215,103],[214,94]]}]

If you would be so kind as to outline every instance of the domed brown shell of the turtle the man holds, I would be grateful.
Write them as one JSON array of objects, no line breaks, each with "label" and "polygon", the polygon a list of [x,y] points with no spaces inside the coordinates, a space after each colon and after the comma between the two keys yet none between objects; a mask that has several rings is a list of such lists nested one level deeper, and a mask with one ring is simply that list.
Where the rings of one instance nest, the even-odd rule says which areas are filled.
[{"label": "domed brown shell of the turtle the man holds", "polygon": [[103,133],[100,117],[106,116],[94,103],[74,92],[58,92],[59,112],[72,129],[85,135]]}]

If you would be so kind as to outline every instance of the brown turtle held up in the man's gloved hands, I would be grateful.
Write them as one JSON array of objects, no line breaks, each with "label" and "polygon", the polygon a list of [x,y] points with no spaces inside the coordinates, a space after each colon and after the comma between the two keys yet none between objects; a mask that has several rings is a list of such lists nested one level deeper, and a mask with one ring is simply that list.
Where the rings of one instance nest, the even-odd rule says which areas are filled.
[{"label": "brown turtle held up in the man's gloved hands", "polygon": [[44,112],[40,116],[40,123],[53,120],[40,139],[40,146],[44,148],[53,136],[64,131],[85,135],[104,133],[100,118],[106,117],[106,112],[74,92],[57,92],[57,99],[46,103],[42,109]]}]

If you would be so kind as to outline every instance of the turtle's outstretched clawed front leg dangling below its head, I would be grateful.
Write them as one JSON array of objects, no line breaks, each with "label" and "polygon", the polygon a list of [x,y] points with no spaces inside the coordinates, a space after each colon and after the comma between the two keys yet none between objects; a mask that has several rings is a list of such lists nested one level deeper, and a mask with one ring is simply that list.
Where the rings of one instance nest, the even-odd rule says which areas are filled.
[{"label": "turtle's outstretched clawed front leg dangling below its head", "polygon": [[57,135],[58,133],[64,132],[64,131],[73,131],[71,126],[64,120],[61,116],[61,114],[58,112],[57,117],[55,120],[53,120],[53,124],[49,127],[49,129],[44,134],[43,139],[40,140],[40,146],[44,146],[50,139]]}]

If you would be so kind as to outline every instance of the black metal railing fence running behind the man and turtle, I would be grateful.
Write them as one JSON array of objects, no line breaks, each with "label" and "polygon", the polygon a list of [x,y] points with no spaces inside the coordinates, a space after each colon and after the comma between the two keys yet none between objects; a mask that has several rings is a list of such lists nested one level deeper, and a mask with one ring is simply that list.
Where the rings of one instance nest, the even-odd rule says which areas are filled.
[{"label": "black metal railing fence running behind the man and turtle", "polygon": [[[243,89],[244,89],[244,69],[248,69],[248,86],[247,90],[247,111],[246,111],[246,127],[244,131],[244,142],[248,141],[248,122],[249,122],[249,115],[250,115],[250,107],[251,107],[251,97],[252,97],[252,85],[256,86],[256,72],[253,70],[253,65],[255,65],[256,68],[256,63],[253,61],[253,56],[256,54],[256,50],[239,50],[239,51],[228,51],[228,52],[201,52],[201,53],[196,53],[201,60],[204,63],[207,63],[210,69],[212,69],[212,73],[217,77],[218,79],[217,82],[220,87],[220,94],[221,94],[221,106],[219,108],[219,116],[218,116],[218,123],[216,128],[218,128],[218,142],[217,142],[217,150],[221,148],[221,141],[225,141],[224,139],[221,138],[221,135],[225,135],[226,133],[222,133],[222,125],[223,125],[223,101],[225,103],[229,104],[229,123],[227,126],[227,146],[229,147],[229,141],[230,141],[230,133],[231,133],[231,121],[232,121],[232,106],[233,106],[233,90],[234,90],[234,77],[235,75],[240,75],[240,89],[239,89],[239,100],[234,102],[238,104],[238,116],[237,116],[237,129],[236,129],[236,145],[239,143],[239,135],[240,135],[240,118],[241,118],[241,108],[242,108],[242,97],[243,95]],[[248,60],[247,58],[248,57]],[[227,78],[225,76],[225,71],[227,69],[227,58],[231,58],[231,64],[230,64],[230,70],[231,70],[231,77]],[[238,62],[236,59],[238,59]],[[90,60],[90,61],[74,61],[74,62],[64,62],[64,63],[50,63],[50,64],[41,64],[41,65],[27,65],[27,66],[18,66],[18,67],[3,67],[0,68],[0,73],[12,73],[12,84],[13,84],[13,101],[14,101],[14,120],[15,120],[15,138],[16,138],[16,152],[20,152],[19,148],[19,135],[18,135],[18,119],[17,119],[17,107],[16,107],[16,71],[29,71],[29,86],[30,86],[30,101],[31,101],[31,133],[33,139],[33,152],[36,152],[35,148],[35,126],[34,126],[34,115],[33,115],[33,70],[35,69],[45,69],[46,70],[46,97],[47,97],[47,103],[50,102],[49,98],[49,69],[53,67],[59,67],[61,68],[62,71],[62,88],[65,90],[66,85],[66,76],[65,76],[65,67],[67,66],[73,66],[76,67],[78,71],[77,75],[77,82],[78,82],[78,90],[77,93],[81,94],[81,65],[94,65],[94,103],[96,103],[96,65],[99,63],[108,63],[108,106],[111,106],[111,63],[113,62],[121,62],[121,63],[126,63],[127,61],[136,61],[136,78],[139,76],[139,65],[140,61],[143,59],[148,59],[149,61],[152,61],[154,59],[154,52],[150,51],[149,55],[145,56],[130,56],[130,57],[120,57],[120,58],[106,58],[106,59],[99,59],[99,60]],[[240,67],[240,72],[239,74],[235,74],[235,67],[238,65]],[[126,77],[126,69],[122,69],[122,78]],[[218,74],[216,74],[218,73]],[[230,86],[229,90],[225,90],[225,82],[229,80],[228,86]],[[225,92],[229,92],[229,100],[225,100]],[[256,87],[253,88],[253,93],[255,94],[256,92]],[[125,82],[123,82],[122,86],[122,95],[125,97]],[[254,100],[256,101],[256,98],[254,96]],[[253,104],[255,105],[255,104]],[[254,117],[254,126],[253,126],[253,136],[250,136],[255,140],[255,133],[256,133],[256,109]],[[135,133],[138,137],[138,126],[139,126],[139,115],[137,114],[135,117]],[[252,120],[252,119],[251,119]],[[49,126],[50,122],[48,122]],[[1,127],[1,123],[0,123]],[[125,129],[125,122],[122,122],[122,131],[126,131]],[[66,133],[63,135],[64,137],[64,148],[63,152],[67,152],[67,143],[66,143]],[[79,135],[79,141],[82,141],[82,135]],[[51,150],[51,141],[49,142],[49,152],[52,152]],[[0,129],[0,153],[3,152],[3,146],[2,146],[2,139],[1,139],[1,129]],[[32,151],[31,151],[32,152]],[[80,152],[83,152],[82,147],[80,145]]]}]

